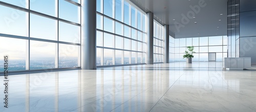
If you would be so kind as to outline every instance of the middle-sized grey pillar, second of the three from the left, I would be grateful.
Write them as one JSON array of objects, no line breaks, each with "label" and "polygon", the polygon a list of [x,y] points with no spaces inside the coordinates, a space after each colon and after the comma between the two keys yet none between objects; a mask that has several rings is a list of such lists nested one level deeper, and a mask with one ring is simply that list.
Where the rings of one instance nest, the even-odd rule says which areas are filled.
[{"label": "middle-sized grey pillar, second of the three from the left", "polygon": [[153,64],[154,63],[154,18],[152,12],[146,13],[146,19],[147,19],[147,49],[146,49],[146,62],[147,64]]}]

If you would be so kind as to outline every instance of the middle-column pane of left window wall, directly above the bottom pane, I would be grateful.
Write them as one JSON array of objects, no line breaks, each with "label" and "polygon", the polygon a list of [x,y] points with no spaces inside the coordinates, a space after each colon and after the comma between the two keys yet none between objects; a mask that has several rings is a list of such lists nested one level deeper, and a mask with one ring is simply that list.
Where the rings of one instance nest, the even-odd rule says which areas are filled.
[{"label": "middle-column pane of left window wall, directly above the bottom pane", "polygon": [[57,20],[30,14],[30,37],[57,40]]}]

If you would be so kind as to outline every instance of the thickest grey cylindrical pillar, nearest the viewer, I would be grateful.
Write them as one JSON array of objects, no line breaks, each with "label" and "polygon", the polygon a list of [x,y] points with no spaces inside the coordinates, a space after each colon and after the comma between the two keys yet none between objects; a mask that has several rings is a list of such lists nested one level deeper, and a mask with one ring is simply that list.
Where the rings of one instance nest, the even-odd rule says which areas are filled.
[{"label": "thickest grey cylindrical pillar, nearest the viewer", "polygon": [[81,69],[96,69],[96,1],[81,1]]}]

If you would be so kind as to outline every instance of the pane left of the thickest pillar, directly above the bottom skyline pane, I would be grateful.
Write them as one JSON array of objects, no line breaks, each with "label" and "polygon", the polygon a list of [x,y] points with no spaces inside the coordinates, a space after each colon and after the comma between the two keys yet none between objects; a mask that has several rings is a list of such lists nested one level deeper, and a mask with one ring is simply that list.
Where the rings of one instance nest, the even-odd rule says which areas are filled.
[{"label": "pane left of the thickest pillar, directly above the bottom skyline pane", "polygon": [[80,27],[59,21],[59,41],[80,43]]}]

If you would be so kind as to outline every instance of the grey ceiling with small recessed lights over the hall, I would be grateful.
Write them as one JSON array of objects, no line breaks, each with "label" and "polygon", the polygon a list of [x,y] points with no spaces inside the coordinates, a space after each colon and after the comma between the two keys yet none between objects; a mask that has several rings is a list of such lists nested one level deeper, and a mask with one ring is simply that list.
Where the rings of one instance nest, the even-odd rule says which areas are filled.
[{"label": "grey ceiling with small recessed lights over the hall", "polygon": [[[162,25],[169,25],[170,35],[175,38],[227,35],[227,0],[130,1],[145,12],[153,12]],[[200,2],[204,2],[205,7],[200,7]],[[195,13],[190,6],[199,6],[200,10]],[[184,23],[182,14],[188,17],[187,13],[194,13],[195,18],[188,18],[189,22]]]}]

